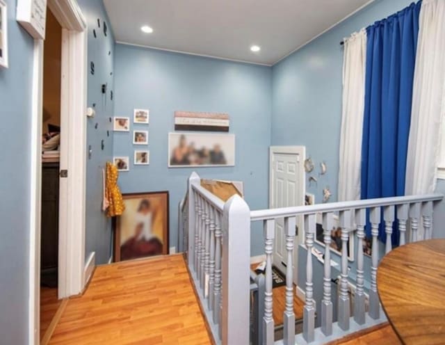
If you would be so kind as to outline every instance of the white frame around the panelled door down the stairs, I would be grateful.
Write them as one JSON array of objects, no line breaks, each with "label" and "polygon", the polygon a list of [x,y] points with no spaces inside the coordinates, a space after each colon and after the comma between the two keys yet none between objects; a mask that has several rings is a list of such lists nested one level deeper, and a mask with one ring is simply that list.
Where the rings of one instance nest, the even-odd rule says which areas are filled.
[{"label": "white frame around the panelled door down the stairs", "polygon": [[[296,154],[300,157],[298,161],[298,186],[302,191],[302,205],[305,204],[305,194],[306,194],[306,172],[305,172],[305,159],[306,159],[306,147],[305,146],[270,146],[269,150],[269,208],[273,207],[273,156],[274,154]],[[298,189],[296,188],[296,193]],[[296,200],[298,200],[298,194],[296,194]],[[294,241],[293,246],[293,262],[298,259],[298,246],[304,241],[304,227],[302,222],[297,223],[300,232],[298,234],[298,242]],[[298,284],[298,265],[293,265],[293,282]]]}]

